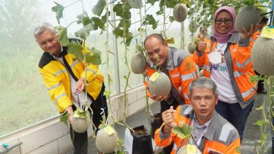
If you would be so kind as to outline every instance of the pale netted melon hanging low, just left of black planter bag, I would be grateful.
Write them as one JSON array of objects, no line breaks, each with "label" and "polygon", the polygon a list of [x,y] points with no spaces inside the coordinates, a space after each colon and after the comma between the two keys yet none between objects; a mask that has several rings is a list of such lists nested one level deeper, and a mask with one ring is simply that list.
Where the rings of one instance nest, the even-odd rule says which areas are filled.
[{"label": "pale netted melon hanging low, just left of black planter bag", "polygon": [[[112,132],[111,135],[109,134]],[[117,132],[110,125],[105,125],[99,129],[95,144],[102,153],[112,153],[116,149],[116,143],[119,141]]]}]

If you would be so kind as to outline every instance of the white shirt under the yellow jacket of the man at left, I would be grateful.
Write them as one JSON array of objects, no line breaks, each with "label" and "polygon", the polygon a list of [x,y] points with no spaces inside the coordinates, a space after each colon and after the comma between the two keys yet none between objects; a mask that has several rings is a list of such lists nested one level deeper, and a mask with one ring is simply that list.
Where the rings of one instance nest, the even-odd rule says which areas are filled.
[{"label": "white shirt under the yellow jacket of the man at left", "polygon": [[[64,65],[63,57],[55,57],[54,55],[53,55],[53,57],[55,58],[55,60],[58,60],[59,62],[61,62]],[[64,65],[64,67],[66,68],[65,65]],[[66,68],[66,70],[69,73],[69,70],[67,68]],[[71,81],[71,101],[73,102],[73,105],[75,105],[75,107],[79,107],[79,105],[81,106],[84,103],[86,95],[84,92],[79,93],[78,94],[79,103],[78,103],[77,94],[75,94],[75,92],[74,92],[74,90],[76,88],[76,81],[75,81],[75,79],[73,79],[73,76],[71,75],[71,73],[69,73],[69,79]],[[87,99],[88,99],[87,100],[88,104],[90,105],[92,103],[92,101],[89,97],[87,97]]]}]

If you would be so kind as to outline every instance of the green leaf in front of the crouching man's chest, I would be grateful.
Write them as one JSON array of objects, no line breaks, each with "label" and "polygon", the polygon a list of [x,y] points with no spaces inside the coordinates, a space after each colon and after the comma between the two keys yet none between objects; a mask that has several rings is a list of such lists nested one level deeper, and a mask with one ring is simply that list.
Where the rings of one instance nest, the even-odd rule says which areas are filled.
[{"label": "green leaf in front of the crouching man's chest", "polygon": [[183,124],[182,127],[175,126],[172,131],[181,139],[191,138],[192,127],[188,127],[187,125]]}]

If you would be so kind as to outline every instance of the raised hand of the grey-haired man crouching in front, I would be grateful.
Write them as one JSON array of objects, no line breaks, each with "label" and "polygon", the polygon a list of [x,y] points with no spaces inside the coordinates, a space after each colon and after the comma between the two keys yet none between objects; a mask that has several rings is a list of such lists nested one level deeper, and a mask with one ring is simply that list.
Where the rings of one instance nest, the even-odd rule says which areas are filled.
[{"label": "raised hand of the grey-haired man crouching in front", "polygon": [[176,126],[174,117],[175,112],[176,110],[173,110],[173,106],[171,106],[169,110],[162,112],[162,120],[164,121],[164,128],[162,129],[163,133],[171,133],[173,127]]}]

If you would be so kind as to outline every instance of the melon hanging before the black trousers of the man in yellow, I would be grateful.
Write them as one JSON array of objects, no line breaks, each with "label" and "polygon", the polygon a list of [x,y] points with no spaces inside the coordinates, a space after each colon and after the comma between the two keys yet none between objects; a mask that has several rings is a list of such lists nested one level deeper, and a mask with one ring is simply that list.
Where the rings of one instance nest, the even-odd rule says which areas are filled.
[{"label": "melon hanging before the black trousers of the man in yellow", "polygon": [[73,126],[73,130],[77,133],[84,133],[86,130],[88,130],[89,123],[88,118],[81,118],[81,117],[75,117],[73,116],[73,123],[71,124]]}]

